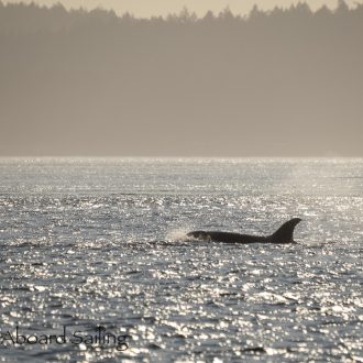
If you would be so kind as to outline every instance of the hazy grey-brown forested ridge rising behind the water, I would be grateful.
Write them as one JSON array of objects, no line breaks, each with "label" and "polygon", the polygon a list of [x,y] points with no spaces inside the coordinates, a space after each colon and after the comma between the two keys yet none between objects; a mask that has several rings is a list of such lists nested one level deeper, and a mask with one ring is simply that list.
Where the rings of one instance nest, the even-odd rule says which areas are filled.
[{"label": "hazy grey-brown forested ridge rising behind the water", "polygon": [[0,154],[362,155],[362,44],[343,1],[151,19],[0,2]]}]

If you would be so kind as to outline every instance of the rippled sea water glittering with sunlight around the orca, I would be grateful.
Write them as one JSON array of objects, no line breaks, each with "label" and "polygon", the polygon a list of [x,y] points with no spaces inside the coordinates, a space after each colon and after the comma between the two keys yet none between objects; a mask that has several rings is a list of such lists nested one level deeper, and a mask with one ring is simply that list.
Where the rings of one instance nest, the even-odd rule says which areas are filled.
[{"label": "rippled sea water glittering with sunlight around the orca", "polygon": [[362,223],[358,158],[1,158],[0,361],[362,362]]}]

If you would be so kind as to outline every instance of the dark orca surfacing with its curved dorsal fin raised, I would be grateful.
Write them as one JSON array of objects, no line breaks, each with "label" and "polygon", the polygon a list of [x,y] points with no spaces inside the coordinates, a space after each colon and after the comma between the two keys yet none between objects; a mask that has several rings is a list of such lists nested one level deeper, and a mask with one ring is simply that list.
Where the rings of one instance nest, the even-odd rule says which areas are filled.
[{"label": "dark orca surfacing with its curved dorsal fin raised", "polygon": [[296,243],[294,241],[294,229],[301,221],[300,218],[293,218],[285,222],[275,233],[271,235],[250,235],[220,231],[191,231],[187,233],[188,238],[199,241],[212,241],[221,243]]}]

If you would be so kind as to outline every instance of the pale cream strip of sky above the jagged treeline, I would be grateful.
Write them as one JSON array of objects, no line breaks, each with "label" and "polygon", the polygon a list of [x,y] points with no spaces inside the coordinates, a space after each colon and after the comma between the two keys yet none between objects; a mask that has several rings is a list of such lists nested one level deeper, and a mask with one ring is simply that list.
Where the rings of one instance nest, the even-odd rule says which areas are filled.
[{"label": "pale cream strip of sky above the jagged treeline", "polygon": [[[3,1],[3,2],[19,2],[19,0]],[[273,9],[275,6],[289,7],[292,3],[299,1],[292,0],[22,0],[25,3],[40,3],[52,6],[56,2],[63,3],[66,8],[97,8],[114,9],[119,14],[123,12],[131,12],[135,16],[150,16],[150,15],[166,15],[173,12],[179,12],[180,9],[187,7],[189,10],[195,11],[198,15],[204,15],[208,10],[219,12],[226,7],[230,7],[233,13],[248,13],[256,3],[261,9]],[[329,8],[336,8],[338,0],[305,0],[311,9],[316,10],[326,4]],[[362,0],[345,0],[350,7]]]}]

